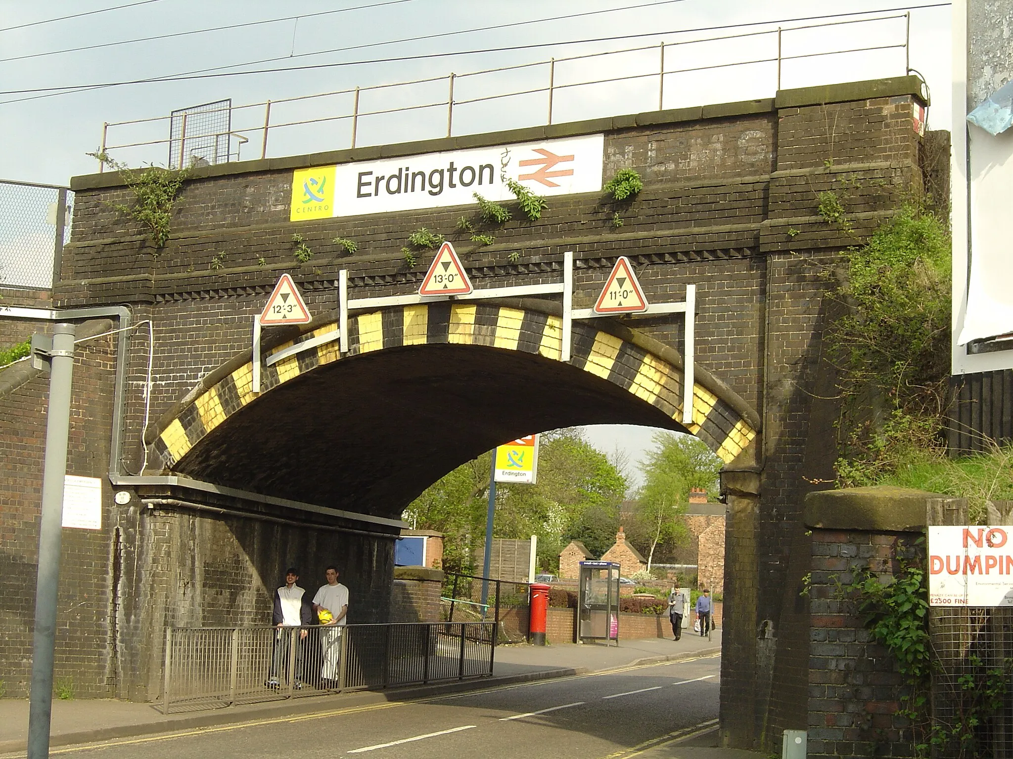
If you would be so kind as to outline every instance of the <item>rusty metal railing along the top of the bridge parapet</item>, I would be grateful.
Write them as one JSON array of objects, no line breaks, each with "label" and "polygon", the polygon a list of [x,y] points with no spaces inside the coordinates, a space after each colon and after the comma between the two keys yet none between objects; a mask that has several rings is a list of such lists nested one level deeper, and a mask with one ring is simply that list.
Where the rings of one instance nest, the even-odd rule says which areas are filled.
[{"label": "rusty metal railing along the top of the bridge parapet", "polygon": [[[588,88],[604,85],[613,85],[605,99],[637,99],[637,102],[612,104],[610,112],[629,112],[629,108],[663,110],[689,104],[675,102],[673,95],[687,89],[694,76],[722,71],[754,77],[764,83],[767,92],[752,92],[749,97],[762,97],[769,89],[780,90],[786,78],[798,78],[796,70],[804,73],[817,60],[838,64],[841,81],[847,81],[853,77],[856,55],[873,56],[875,68],[888,71],[882,75],[895,75],[902,70],[905,75],[912,73],[910,12],[886,15],[856,12],[840,16],[860,17],[769,24],[767,28],[743,24],[751,28],[258,103],[232,105],[231,100],[205,103],[168,116],[105,122],[98,155],[114,153],[112,157],[116,160],[139,166],[165,161],[167,148],[166,165],[180,167],[194,161],[239,160],[240,148],[247,143],[253,150],[259,148],[258,155],[253,157],[263,159],[268,156],[268,137],[275,136],[278,137],[271,145],[281,142],[282,154],[285,150],[298,153],[335,150],[344,145],[355,148],[364,142],[373,144],[369,137],[363,140],[364,128],[379,136],[380,142],[390,142],[388,121],[395,114],[405,116],[409,140],[468,134],[467,124],[481,122],[483,115],[494,117],[499,123],[503,118],[512,118],[511,126],[551,124],[558,117],[560,97],[574,93],[579,99],[594,93],[593,96],[602,98],[604,90]],[[819,33],[831,29],[832,34]],[[701,64],[702,56],[714,54],[714,44],[719,46],[716,62]],[[888,62],[879,60],[884,51],[894,52],[888,56],[891,59]],[[593,72],[597,74],[589,77]],[[704,81],[711,91],[726,89],[713,87],[709,84],[711,79],[700,79],[696,84]],[[728,79],[726,83],[735,80]],[[482,106],[492,109],[483,112]],[[529,112],[545,115],[529,118]],[[518,117],[521,121],[517,121]],[[463,130],[462,123],[466,124]],[[166,125],[168,138],[164,137]],[[419,130],[426,130],[426,134],[419,134]],[[104,163],[99,160],[98,170],[103,168]]]}]

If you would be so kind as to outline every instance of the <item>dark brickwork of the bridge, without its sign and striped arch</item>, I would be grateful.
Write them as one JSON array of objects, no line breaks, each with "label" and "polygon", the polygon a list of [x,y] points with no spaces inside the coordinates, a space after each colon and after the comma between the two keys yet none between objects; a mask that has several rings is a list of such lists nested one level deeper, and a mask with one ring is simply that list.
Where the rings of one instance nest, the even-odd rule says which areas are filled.
[{"label": "dark brickwork of the bridge, without its sign and striped arch", "polygon": [[[148,411],[156,420],[208,372],[249,349],[252,316],[280,272],[293,273],[315,314],[334,308],[340,268],[348,269],[355,297],[411,292],[426,261],[415,267],[404,264],[400,248],[408,234],[425,226],[455,239],[457,219],[472,210],[437,208],[292,224],[293,169],[604,133],[605,178],[632,167],[645,184],[632,203],[620,208],[621,228],[612,225],[616,208],[600,193],[556,196],[538,222],[512,222],[496,234],[494,245],[471,251],[465,243],[459,250],[478,287],[558,281],[562,251],[574,250],[575,308],[593,304],[618,255],[631,258],[652,302],[682,300],[686,284],[697,285],[698,365],[723,381],[763,421],[762,438],[723,476],[729,504],[729,608],[723,636],[722,729],[725,740],[736,746],[773,745],[782,728],[805,726],[808,615],[797,586],[809,545],[798,504],[812,487],[808,482],[827,478],[835,456],[828,444],[833,439],[832,409],[814,400],[831,395],[821,392],[828,382],[821,362],[829,308],[824,296],[834,281],[827,267],[874,230],[907,193],[922,187],[921,140],[911,120],[920,92],[914,78],[878,80],[782,91],[768,100],[198,169],[174,212],[168,243],[157,255],[134,223],[111,207],[130,200],[114,174],[78,177],[73,182],[73,237],[64,251],[54,303],[61,308],[127,304],[135,322],[152,320],[155,384]],[[851,234],[817,214],[817,194],[825,190],[842,199]],[[293,259],[296,232],[314,254],[301,266]],[[355,240],[359,253],[343,254],[331,242],[335,235]],[[508,254],[515,251],[520,258],[512,262]],[[681,319],[628,323],[681,352]],[[147,351],[146,331],[139,330],[131,339],[125,399],[125,472],[139,472],[143,462]],[[103,366],[88,386],[102,391],[101,401],[79,403],[75,412],[97,452],[82,459],[74,474],[105,475],[99,449],[108,438],[108,414],[101,405],[108,403],[108,389],[102,383],[108,383],[110,373]],[[23,401],[2,399],[18,407],[22,421],[17,424],[42,423],[40,402],[27,401],[31,394],[44,397],[41,382],[33,380],[19,391],[27,394],[20,397]],[[15,435],[10,426],[6,434]],[[19,450],[37,461],[41,454],[32,444],[26,441]],[[309,446],[306,454],[319,452]],[[321,457],[321,471],[326,461]],[[37,465],[32,466],[11,474],[10,463],[0,463],[3,477],[37,483]],[[269,461],[249,460],[246,466]],[[24,571],[19,580],[0,577],[0,597],[25,607],[30,606],[25,599],[34,575],[37,505],[32,487],[37,486],[3,496],[2,558]],[[276,517],[279,512],[224,496],[218,502]],[[111,638],[94,631],[75,641],[76,658],[118,662],[103,665],[116,670],[106,677],[119,683],[110,693],[144,695],[155,687],[155,674],[145,674],[156,672],[159,656],[158,625],[151,620],[168,618],[167,609],[158,604],[176,602],[165,599],[176,598],[172,585],[181,576],[165,569],[161,557],[178,551],[183,561],[194,535],[222,541],[224,558],[213,559],[212,552],[207,561],[230,563],[221,572],[186,576],[187,583],[196,584],[196,597],[204,599],[191,607],[194,614],[198,607],[224,604],[227,613],[222,614],[229,619],[259,618],[267,590],[284,569],[281,558],[268,559],[278,544],[307,546],[286,558],[305,567],[305,576],[315,578],[328,557],[346,562],[345,576],[358,578],[347,583],[354,601],[357,594],[359,599],[373,597],[367,591],[383,583],[386,590],[377,597],[390,597],[392,562],[389,541],[383,539],[369,547],[372,538],[332,533],[344,536],[311,547],[306,533],[312,530],[295,525],[261,520],[240,528],[238,518],[230,522],[171,508],[149,519],[138,513],[136,499],[126,508],[116,507],[111,489],[104,506],[106,523],[121,531],[73,538],[95,545],[88,559],[65,557],[68,603],[62,596],[61,608],[88,594],[98,627],[122,620]],[[123,536],[121,553],[114,534]],[[187,566],[194,561],[185,559]],[[124,578],[119,591],[109,589],[115,567]],[[236,585],[237,577],[243,578],[243,588]],[[385,606],[377,605],[362,620],[386,613]],[[142,624],[142,618],[148,621]],[[5,629],[0,670],[23,662],[30,647],[30,623],[27,617],[19,619]],[[60,639],[62,650],[69,640]],[[63,662],[58,676],[91,682],[100,669],[75,659]],[[8,687],[7,692],[23,690]]]}]

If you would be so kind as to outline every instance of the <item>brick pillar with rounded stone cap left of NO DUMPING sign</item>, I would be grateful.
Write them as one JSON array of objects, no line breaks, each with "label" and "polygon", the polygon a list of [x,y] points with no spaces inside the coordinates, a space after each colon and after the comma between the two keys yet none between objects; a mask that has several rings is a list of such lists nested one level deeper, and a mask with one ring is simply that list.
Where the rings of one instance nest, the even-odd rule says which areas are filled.
[{"label": "brick pillar with rounded stone cap left of NO DUMPING sign", "polygon": [[811,493],[809,757],[914,757],[910,722],[898,714],[905,695],[895,660],[871,640],[839,583],[868,568],[884,580],[897,557],[916,556],[930,493],[855,488]]}]

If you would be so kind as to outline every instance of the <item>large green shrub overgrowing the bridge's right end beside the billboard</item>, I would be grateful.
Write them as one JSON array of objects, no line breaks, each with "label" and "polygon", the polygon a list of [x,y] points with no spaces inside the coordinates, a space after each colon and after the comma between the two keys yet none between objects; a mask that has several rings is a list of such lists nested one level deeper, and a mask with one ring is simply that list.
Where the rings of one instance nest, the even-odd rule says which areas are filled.
[{"label": "large green shrub overgrowing the bridge's right end beside the billboard", "polygon": [[827,331],[838,368],[840,485],[872,484],[943,447],[950,341],[949,233],[902,206],[847,254]]}]

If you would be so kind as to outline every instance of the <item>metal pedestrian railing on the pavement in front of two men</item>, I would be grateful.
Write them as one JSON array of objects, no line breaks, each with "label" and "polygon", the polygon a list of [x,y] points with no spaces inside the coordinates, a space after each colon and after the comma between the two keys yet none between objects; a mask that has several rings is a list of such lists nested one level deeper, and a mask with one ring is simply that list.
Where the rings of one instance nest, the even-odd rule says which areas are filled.
[{"label": "metal pedestrian railing on the pavement in front of two men", "polygon": [[169,627],[162,711],[488,677],[495,622]]}]

